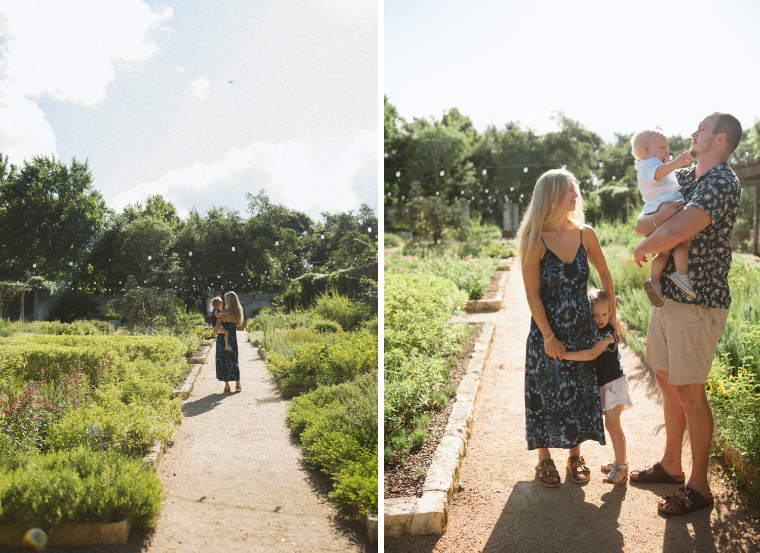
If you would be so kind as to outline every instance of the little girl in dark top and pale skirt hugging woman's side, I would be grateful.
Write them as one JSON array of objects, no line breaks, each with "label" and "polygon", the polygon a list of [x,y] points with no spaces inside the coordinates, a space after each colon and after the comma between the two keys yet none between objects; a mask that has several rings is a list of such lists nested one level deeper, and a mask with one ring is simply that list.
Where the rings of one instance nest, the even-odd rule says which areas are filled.
[{"label": "little girl in dark top and pale skirt hugging woman's side", "polygon": [[578,352],[565,352],[565,359],[575,361],[597,360],[597,381],[602,402],[604,426],[610,433],[615,451],[615,460],[601,466],[607,476],[604,482],[617,484],[628,478],[628,461],[625,460],[625,435],[620,426],[620,413],[631,409],[633,403],[628,392],[628,379],[620,367],[617,347],[617,334],[610,324],[610,296],[603,290],[591,289],[588,292],[591,312],[599,327],[597,343],[591,349]]}]

